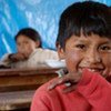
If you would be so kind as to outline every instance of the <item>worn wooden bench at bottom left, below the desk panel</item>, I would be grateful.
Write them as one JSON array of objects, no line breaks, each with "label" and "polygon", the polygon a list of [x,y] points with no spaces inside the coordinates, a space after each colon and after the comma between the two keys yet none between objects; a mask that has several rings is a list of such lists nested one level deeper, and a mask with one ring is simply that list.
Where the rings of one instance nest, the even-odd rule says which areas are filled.
[{"label": "worn wooden bench at bottom left, below the desk panel", "polygon": [[0,111],[30,109],[34,90],[1,92],[0,93]]}]

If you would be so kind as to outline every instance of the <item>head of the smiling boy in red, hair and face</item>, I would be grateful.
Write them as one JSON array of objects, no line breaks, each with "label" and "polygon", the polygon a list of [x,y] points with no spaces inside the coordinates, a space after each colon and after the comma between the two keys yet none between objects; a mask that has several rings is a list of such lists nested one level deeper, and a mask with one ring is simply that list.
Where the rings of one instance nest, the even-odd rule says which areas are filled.
[{"label": "head of the smiling boy in red, hair and face", "polygon": [[88,68],[105,75],[111,69],[111,11],[103,3],[77,2],[61,14],[57,39],[70,73]]}]

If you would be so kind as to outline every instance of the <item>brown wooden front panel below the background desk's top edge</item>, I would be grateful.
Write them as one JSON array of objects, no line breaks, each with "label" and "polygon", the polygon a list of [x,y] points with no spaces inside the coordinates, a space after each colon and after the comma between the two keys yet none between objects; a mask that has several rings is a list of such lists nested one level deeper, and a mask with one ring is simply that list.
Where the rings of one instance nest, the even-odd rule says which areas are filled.
[{"label": "brown wooden front panel below the background desk's top edge", "polygon": [[36,89],[54,77],[57,77],[57,73],[0,77],[0,92],[11,90],[30,90],[33,88]]}]

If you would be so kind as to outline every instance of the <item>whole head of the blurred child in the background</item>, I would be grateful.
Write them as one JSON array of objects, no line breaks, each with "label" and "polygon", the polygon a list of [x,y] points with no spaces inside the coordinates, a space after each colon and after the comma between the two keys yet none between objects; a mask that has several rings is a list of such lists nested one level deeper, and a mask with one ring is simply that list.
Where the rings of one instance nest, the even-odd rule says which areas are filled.
[{"label": "whole head of the blurred child in the background", "polygon": [[24,28],[17,33],[16,42],[18,52],[29,57],[36,48],[41,47],[41,37],[34,29]]}]

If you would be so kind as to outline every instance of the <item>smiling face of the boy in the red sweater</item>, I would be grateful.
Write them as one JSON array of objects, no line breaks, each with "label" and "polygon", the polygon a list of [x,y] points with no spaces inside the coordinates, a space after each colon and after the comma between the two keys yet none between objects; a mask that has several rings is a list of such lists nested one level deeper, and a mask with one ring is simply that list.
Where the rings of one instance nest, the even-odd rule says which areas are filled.
[{"label": "smiling face of the boy in the red sweater", "polygon": [[110,73],[111,69],[111,39],[101,38],[97,34],[88,37],[72,36],[65,42],[65,48],[58,50],[60,58],[65,59],[70,74],[82,72],[88,69],[99,72],[103,77]]}]

